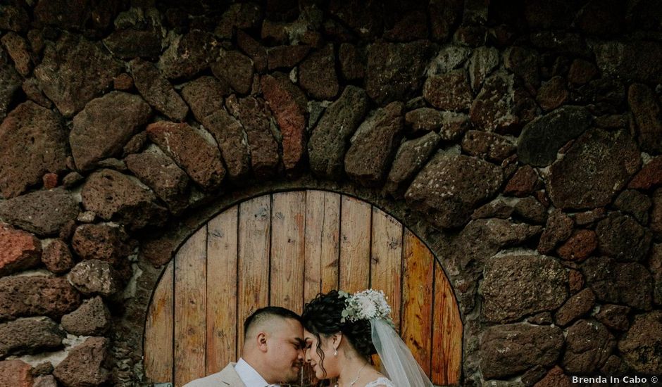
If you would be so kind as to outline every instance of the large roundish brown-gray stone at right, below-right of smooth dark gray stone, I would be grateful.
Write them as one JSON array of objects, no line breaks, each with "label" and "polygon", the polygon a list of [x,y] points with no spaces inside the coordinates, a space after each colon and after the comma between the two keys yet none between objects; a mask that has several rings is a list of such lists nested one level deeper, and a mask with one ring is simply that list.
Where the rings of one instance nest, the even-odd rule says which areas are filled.
[{"label": "large roundish brown-gray stone at right, below-right of smooth dark gray stone", "polygon": [[637,144],[627,132],[591,129],[551,165],[547,192],[557,208],[601,207],[611,202],[640,165]]}]

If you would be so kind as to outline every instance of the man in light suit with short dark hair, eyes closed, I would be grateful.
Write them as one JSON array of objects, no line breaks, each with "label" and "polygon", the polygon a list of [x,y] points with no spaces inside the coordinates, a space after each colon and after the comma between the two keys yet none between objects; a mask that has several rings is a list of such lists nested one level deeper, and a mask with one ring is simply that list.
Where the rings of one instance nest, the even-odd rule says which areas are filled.
[{"label": "man in light suit with short dark hair, eyes closed", "polygon": [[299,379],[304,364],[299,315],[284,307],[256,310],[244,322],[244,348],[237,363],[184,387],[266,387]]}]

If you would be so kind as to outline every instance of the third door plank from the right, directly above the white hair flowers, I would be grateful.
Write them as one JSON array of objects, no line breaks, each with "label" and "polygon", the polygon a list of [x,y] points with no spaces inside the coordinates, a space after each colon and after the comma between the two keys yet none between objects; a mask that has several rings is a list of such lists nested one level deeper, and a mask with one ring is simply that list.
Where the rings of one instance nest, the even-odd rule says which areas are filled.
[{"label": "third door plank from the right, directly above the white hair flowers", "polygon": [[370,248],[370,288],[384,291],[392,307],[391,317],[400,328],[402,299],[402,224],[373,207],[372,247]]}]

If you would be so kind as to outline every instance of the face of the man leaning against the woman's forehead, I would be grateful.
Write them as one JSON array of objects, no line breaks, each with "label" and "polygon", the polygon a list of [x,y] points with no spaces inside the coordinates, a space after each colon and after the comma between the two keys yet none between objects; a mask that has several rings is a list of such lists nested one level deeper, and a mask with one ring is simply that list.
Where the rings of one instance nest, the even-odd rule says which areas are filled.
[{"label": "face of the man leaning against the woman's forehead", "polygon": [[278,381],[299,379],[304,364],[303,327],[295,319],[282,319],[269,339],[268,362]]}]

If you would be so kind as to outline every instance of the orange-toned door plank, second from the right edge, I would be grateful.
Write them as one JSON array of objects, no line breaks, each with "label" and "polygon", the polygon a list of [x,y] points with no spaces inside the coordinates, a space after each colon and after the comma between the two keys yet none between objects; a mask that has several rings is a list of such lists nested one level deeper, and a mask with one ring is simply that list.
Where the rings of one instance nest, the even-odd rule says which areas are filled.
[{"label": "orange-toned door plank, second from the right edge", "polygon": [[401,336],[426,374],[432,345],[432,279],[434,258],[411,231],[404,236]]}]

